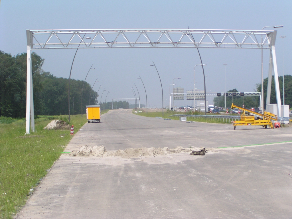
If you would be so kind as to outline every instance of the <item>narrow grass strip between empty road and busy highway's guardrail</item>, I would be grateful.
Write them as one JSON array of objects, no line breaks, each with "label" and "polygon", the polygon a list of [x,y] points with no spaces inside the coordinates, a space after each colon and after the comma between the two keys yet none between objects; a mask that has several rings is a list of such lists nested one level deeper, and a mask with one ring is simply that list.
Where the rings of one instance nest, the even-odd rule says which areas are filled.
[{"label": "narrow grass strip between empty road and busy highway's guardrail", "polygon": [[[139,116],[146,116],[146,117],[162,117],[164,119],[175,119],[175,120],[180,120],[179,116],[171,116],[174,114],[187,114],[187,112],[173,112],[170,110],[164,111],[164,115],[162,116],[162,112],[140,112],[140,113],[135,113],[136,115]],[[171,116],[171,117],[170,117]],[[220,121],[220,119],[215,119],[215,118],[195,118],[195,117],[187,117],[187,121],[196,121],[196,122],[208,122],[208,123],[222,123],[222,124],[230,124],[228,121]]]}]

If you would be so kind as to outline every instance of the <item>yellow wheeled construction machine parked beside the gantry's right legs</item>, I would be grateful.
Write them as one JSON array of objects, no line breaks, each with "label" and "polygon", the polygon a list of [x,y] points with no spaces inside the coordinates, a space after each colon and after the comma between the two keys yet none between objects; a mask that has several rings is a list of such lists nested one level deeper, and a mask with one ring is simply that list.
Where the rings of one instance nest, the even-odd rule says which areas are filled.
[{"label": "yellow wheeled construction machine parked beside the gantry's right legs", "polygon": [[[277,115],[274,115],[270,112],[263,112],[263,113],[258,113],[251,111],[249,109],[245,109],[243,107],[236,106],[232,103],[231,108],[237,108],[242,110],[242,114],[240,115],[240,120],[239,121],[231,121],[233,124],[233,129],[235,130],[236,126],[255,126],[255,125],[260,125],[265,128],[267,126],[270,126],[271,128],[274,128],[273,121],[277,121]],[[248,114],[246,116],[245,114]],[[273,121],[272,121],[273,120]]]}]

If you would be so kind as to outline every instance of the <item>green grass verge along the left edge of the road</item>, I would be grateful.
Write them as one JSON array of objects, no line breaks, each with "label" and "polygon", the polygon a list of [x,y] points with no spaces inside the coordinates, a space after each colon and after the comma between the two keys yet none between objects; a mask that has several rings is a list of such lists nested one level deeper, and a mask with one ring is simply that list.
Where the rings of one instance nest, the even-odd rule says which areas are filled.
[{"label": "green grass verge along the left edge of the road", "polygon": [[[30,135],[24,135],[25,119],[1,118],[0,218],[13,218],[31,194],[29,190],[38,186],[71,140],[70,130],[43,129],[51,120],[68,121],[67,117],[40,116],[35,119],[36,132]],[[87,122],[86,115],[70,119],[75,133]]]}]

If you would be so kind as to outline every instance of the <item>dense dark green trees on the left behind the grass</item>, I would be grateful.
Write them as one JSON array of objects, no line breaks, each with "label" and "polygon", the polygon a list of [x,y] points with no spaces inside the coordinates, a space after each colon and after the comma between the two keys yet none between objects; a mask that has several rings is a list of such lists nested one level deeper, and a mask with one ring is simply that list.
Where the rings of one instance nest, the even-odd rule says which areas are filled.
[{"label": "dense dark green trees on the left behind the grass", "polygon": [[[16,56],[0,51],[0,116],[25,117],[26,112],[26,53]],[[36,115],[68,114],[68,79],[57,78],[41,67],[44,59],[32,53],[34,112]],[[70,81],[71,114],[81,113],[81,90],[84,81]],[[91,86],[83,88],[83,112],[89,104]],[[91,105],[97,104],[95,91],[91,93]]]}]

